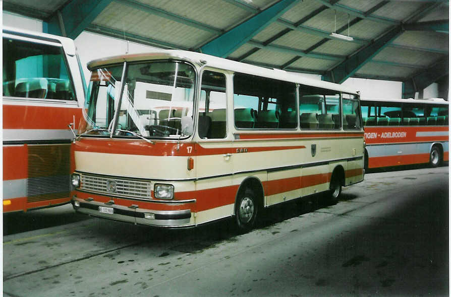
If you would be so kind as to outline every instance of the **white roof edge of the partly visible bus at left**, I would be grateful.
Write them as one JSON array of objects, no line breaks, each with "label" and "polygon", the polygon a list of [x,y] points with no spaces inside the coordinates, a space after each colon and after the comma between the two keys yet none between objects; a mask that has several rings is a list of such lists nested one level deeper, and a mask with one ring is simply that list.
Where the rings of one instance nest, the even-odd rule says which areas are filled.
[{"label": "white roof edge of the partly visible bus at left", "polygon": [[36,31],[28,31],[28,30],[7,27],[7,26],[4,26],[2,28],[2,30],[3,30],[4,38],[5,37],[8,38],[9,35],[10,36],[14,35],[14,36],[17,36],[19,38],[24,38],[24,39],[31,38],[31,39],[39,39],[39,40],[47,41],[47,42],[60,43],[63,45],[64,51],[66,54],[71,55],[71,56],[74,56],[76,54],[76,47],[75,47],[74,40],[72,40],[68,37],[40,33],[40,32],[36,32]]}]

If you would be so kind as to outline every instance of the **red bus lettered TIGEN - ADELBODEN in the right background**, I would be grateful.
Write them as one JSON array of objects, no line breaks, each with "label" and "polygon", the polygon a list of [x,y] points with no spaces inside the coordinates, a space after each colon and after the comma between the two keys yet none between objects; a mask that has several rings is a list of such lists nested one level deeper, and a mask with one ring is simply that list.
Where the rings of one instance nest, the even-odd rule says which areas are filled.
[{"label": "red bus lettered TIGEN - ADELBODEN in the right background", "polygon": [[362,99],[361,105],[366,168],[448,161],[447,101]]}]

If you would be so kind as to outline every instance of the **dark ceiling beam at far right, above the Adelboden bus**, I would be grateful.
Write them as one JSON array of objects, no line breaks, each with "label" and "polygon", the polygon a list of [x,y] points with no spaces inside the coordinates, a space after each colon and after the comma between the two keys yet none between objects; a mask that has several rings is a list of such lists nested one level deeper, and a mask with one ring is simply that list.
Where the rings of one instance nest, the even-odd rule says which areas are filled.
[{"label": "dark ceiling beam at far right, above the Adelboden bus", "polygon": [[411,78],[403,81],[403,98],[415,98],[416,92],[421,92],[432,83],[447,76],[449,72],[449,57],[438,60],[426,70],[421,70]]}]

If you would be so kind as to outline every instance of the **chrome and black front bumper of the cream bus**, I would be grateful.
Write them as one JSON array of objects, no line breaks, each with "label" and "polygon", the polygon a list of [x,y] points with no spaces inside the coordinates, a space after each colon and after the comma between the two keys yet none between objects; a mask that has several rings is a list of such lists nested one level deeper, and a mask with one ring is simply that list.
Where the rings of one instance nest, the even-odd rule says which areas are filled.
[{"label": "chrome and black front bumper of the cream bus", "polygon": [[[183,228],[192,227],[194,223],[194,213],[191,209],[180,210],[157,210],[139,207],[137,204],[133,204],[133,200],[128,200],[130,205],[116,204],[113,199],[102,202],[95,201],[92,198],[80,198],[74,195],[72,198],[72,206],[77,212],[85,213],[92,216],[108,218],[113,220],[131,222],[133,224],[155,226],[155,227],[168,227],[168,228]],[[188,203],[181,203],[189,204]],[[147,203],[152,205],[152,202]],[[173,202],[172,202],[173,204]],[[100,207],[109,208],[112,213],[100,212]],[[161,203],[158,203],[158,208],[161,208]]]}]

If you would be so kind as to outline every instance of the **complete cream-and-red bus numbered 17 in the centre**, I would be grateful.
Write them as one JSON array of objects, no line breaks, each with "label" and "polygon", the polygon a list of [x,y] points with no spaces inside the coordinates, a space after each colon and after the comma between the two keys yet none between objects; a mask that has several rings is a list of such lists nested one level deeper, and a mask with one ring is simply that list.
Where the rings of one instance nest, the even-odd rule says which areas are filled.
[{"label": "complete cream-and-red bus numbered 17 in the centre", "polygon": [[234,217],[363,180],[358,93],[201,53],[88,63],[76,211],[159,227]]}]

